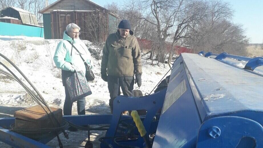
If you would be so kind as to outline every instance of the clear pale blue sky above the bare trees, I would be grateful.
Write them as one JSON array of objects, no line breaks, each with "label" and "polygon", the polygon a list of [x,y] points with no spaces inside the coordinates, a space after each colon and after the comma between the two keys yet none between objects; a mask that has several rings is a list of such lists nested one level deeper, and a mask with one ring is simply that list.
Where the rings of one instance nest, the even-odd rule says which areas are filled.
[{"label": "clear pale blue sky above the bare trees", "polygon": [[[106,3],[122,3],[123,0],[92,0],[104,6]],[[235,11],[233,22],[242,24],[250,43],[263,42],[263,0],[223,0]]]}]

